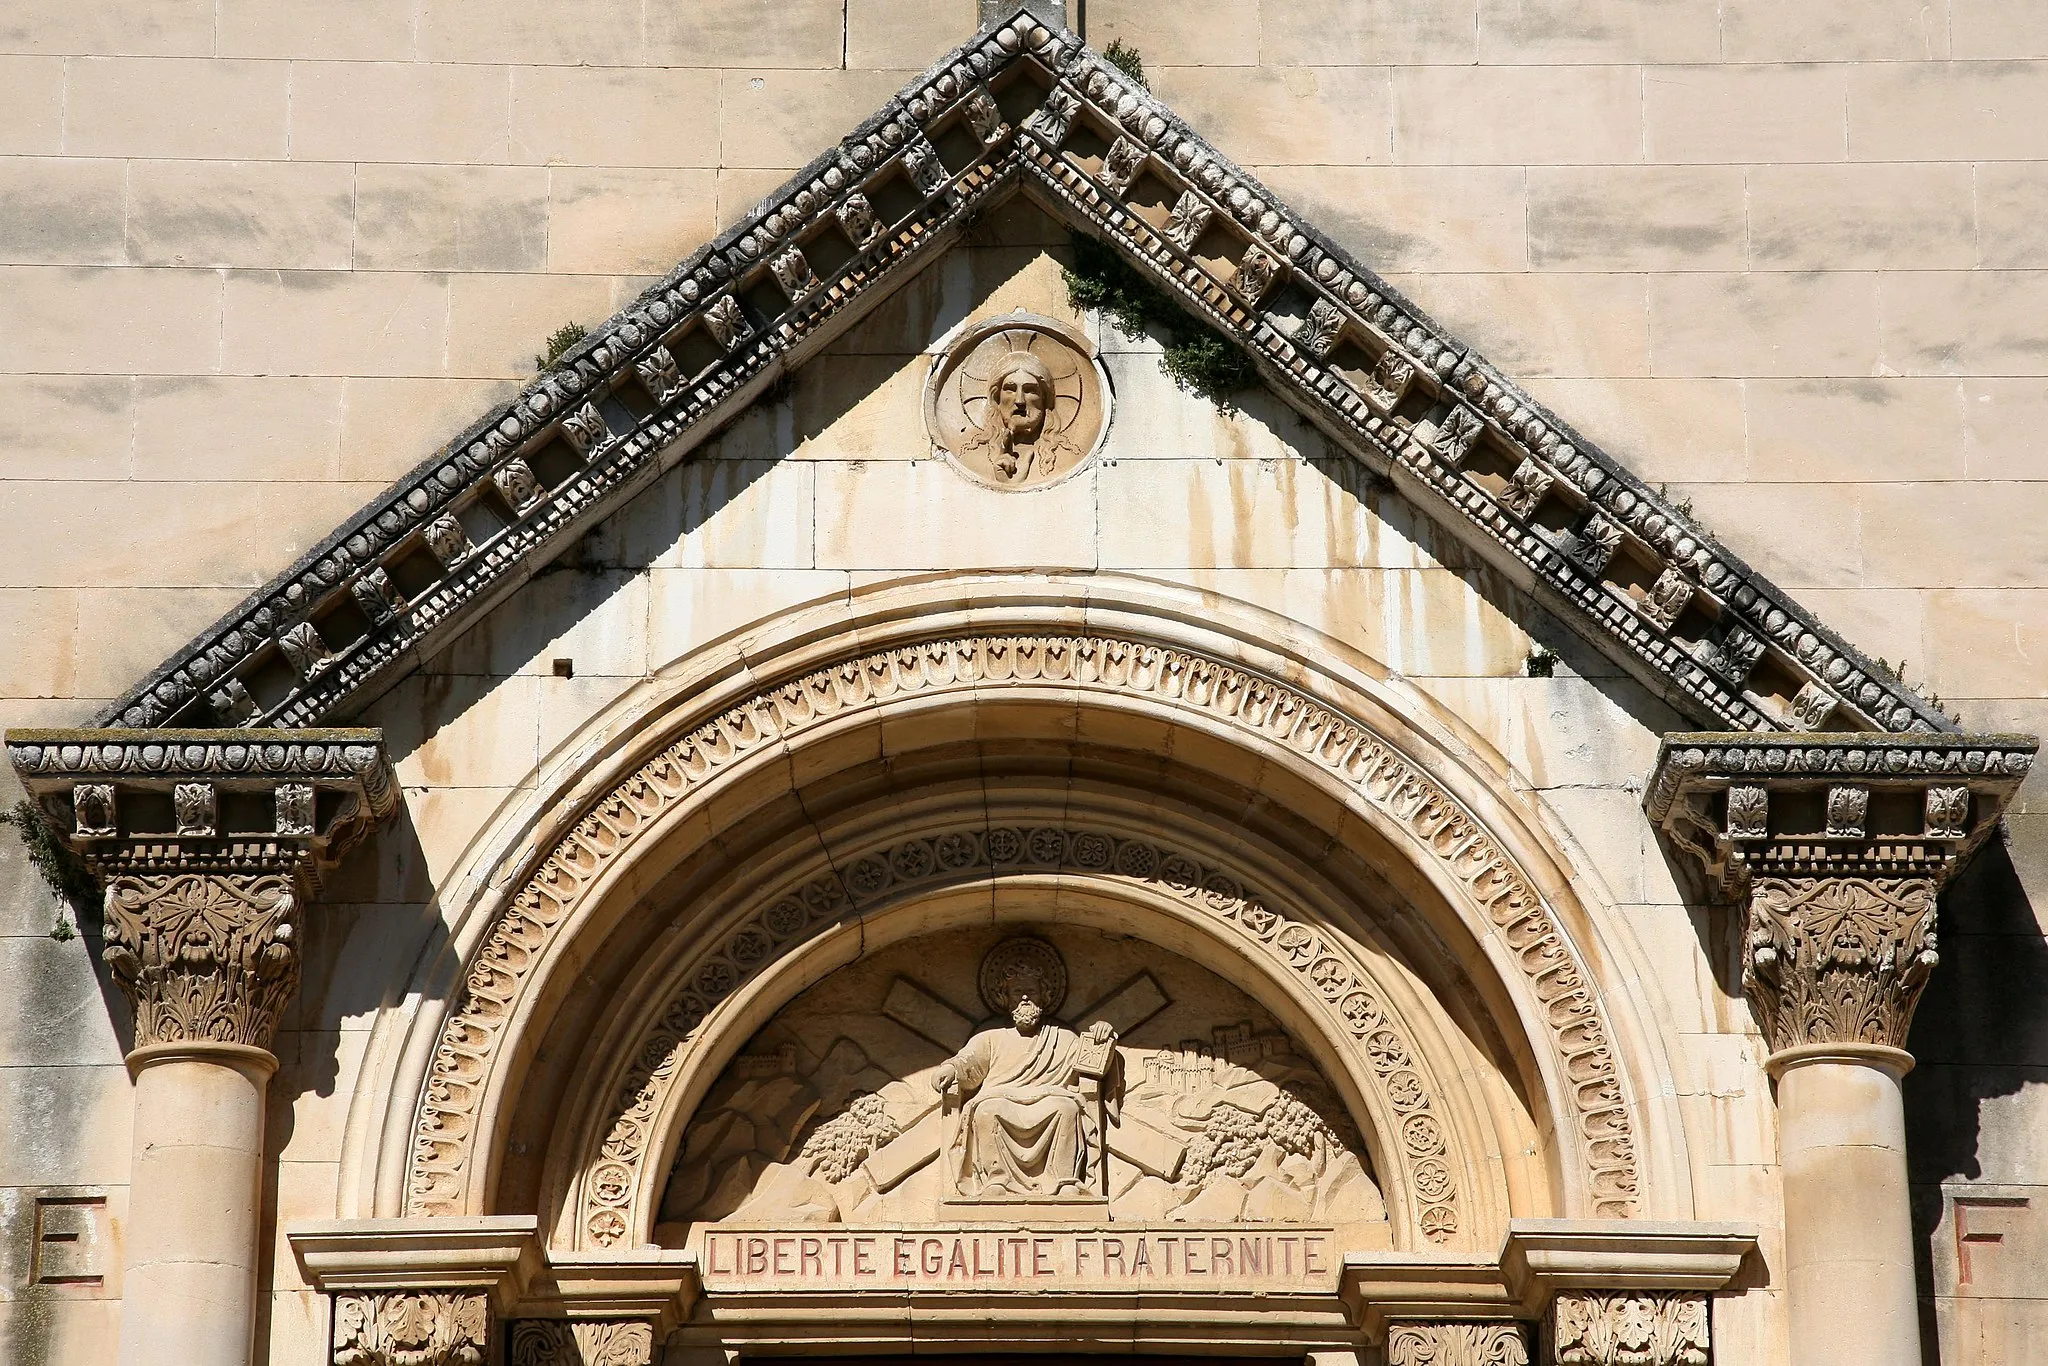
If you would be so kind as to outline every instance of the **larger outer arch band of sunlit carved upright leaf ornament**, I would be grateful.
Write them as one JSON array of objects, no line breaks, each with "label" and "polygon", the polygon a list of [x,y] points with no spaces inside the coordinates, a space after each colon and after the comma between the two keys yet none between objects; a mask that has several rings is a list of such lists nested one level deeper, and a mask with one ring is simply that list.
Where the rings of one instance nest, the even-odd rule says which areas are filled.
[{"label": "larger outer arch band of sunlit carved upright leaf ornament", "polygon": [[[414,1124],[406,1212],[442,1214],[475,1206],[473,1184],[483,1161],[477,1151],[481,1106],[508,1026],[563,924],[635,842],[762,745],[795,741],[827,721],[897,698],[1006,684],[1059,684],[1196,711],[1286,745],[1405,831],[1413,848],[1448,874],[1499,932],[1534,997],[1546,1034],[1538,1042],[1548,1044],[1554,1059],[1561,1106],[1573,1130],[1573,1159],[1567,1161],[1577,1163],[1591,1210],[1604,1216],[1634,1210],[1636,1137],[1595,987],[1556,913],[1470,811],[1407,756],[1298,688],[1190,649],[1106,633],[1053,633],[954,635],[815,668],[696,725],[598,799],[498,911],[440,1026]],[[938,856],[936,848],[932,856]],[[850,868],[838,893],[817,889],[811,895],[858,901],[864,893]],[[813,911],[817,920],[836,913],[831,905],[817,909],[805,903],[807,922]],[[772,913],[793,915],[788,907]],[[750,940],[733,948],[739,954],[758,948],[766,956],[776,940],[774,928],[762,924],[754,934],[762,936],[760,944]],[[733,954],[725,954],[723,963],[725,969],[707,965],[707,971],[737,975],[741,965]],[[678,1018],[676,1024],[682,1028],[672,1032],[682,1036],[694,1022]],[[649,1075],[664,1057],[668,1049],[645,1059]],[[606,1182],[598,1186],[606,1188]]]}]

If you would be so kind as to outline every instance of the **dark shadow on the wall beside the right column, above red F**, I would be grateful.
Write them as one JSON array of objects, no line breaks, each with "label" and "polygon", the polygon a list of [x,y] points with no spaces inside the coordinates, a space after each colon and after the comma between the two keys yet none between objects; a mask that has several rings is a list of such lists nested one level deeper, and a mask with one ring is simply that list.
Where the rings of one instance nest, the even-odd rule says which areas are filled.
[{"label": "dark shadow on the wall beside the right column, above red F", "polygon": [[[1939,952],[1942,967],[1913,1016],[1907,1047],[1917,1065],[1905,1079],[1913,1257],[1929,1366],[1942,1360],[1935,1239],[1952,1237],[1944,1229],[1942,1184],[2023,1182],[2030,1173],[2011,1165],[2025,1161],[2034,1141],[2019,1128],[2040,1118],[1995,1102],[2030,1085],[2048,1087],[2048,940],[2003,840],[1993,838],[1942,897]],[[2048,1188],[2034,1198],[2032,1219],[2044,1216],[2044,1202]],[[1939,1290],[1952,1294],[1956,1286]],[[1970,1360],[1968,1352],[1962,1360]]]}]

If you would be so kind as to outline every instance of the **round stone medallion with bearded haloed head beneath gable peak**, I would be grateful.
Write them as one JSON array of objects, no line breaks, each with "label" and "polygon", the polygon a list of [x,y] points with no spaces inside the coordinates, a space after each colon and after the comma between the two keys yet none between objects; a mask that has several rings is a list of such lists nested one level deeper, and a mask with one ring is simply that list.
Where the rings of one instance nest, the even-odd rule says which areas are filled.
[{"label": "round stone medallion with bearded haloed head beneath gable peak", "polygon": [[1006,313],[963,330],[924,387],[932,444],[975,483],[1034,489],[1085,465],[1110,430],[1110,377],[1073,328]]}]

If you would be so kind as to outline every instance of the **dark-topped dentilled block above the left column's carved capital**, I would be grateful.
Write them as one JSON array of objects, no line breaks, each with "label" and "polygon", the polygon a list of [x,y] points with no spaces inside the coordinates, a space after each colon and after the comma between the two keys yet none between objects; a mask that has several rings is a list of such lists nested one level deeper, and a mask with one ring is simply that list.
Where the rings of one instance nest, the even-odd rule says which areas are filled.
[{"label": "dark-topped dentilled block above the left column's carved capital", "polygon": [[100,881],[121,872],[309,879],[397,809],[379,729],[16,729],[8,760]]}]

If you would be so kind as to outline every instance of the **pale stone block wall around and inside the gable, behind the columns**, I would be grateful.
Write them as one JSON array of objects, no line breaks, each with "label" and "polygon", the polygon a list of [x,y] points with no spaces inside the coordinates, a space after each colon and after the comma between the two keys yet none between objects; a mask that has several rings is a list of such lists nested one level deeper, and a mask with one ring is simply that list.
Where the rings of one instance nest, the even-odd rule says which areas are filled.
[{"label": "pale stone block wall around and inside the gable, behind the columns", "polygon": [[[90,717],[510,393],[553,328],[598,322],[973,23],[971,0],[16,0],[0,16],[0,723]],[[1133,43],[1225,152],[1968,727],[2048,729],[2034,6],[1096,0],[1085,35]],[[987,295],[1022,281],[1057,307],[1026,268],[1057,240],[1018,231],[979,248]],[[948,537],[920,479],[952,475],[877,459],[891,451],[848,397],[903,383],[930,340],[913,324],[946,289],[983,289],[965,256],[940,270],[897,342],[872,340],[885,309],[829,387],[750,418],[723,461],[530,588],[522,623],[500,614],[377,707],[418,844],[358,868],[344,901],[377,909],[344,907],[313,946],[356,971],[309,969],[281,1040],[281,1216],[332,1212],[379,975],[403,979],[438,926],[432,879],[569,727],[778,602],[1016,563]],[[1624,786],[1661,709],[1573,678],[1604,670],[1391,494],[1319,463],[1278,405],[1219,422],[1143,379],[1141,348],[1112,362],[1176,459],[1112,451],[1065,494],[1063,537],[1028,553],[1350,631],[1462,711],[1591,846],[1655,977],[1694,985],[1667,993],[1710,1153],[1696,1196],[1704,1216],[1769,1223],[1753,1028]],[[635,618],[639,635],[616,629]],[[1520,678],[1532,641],[1565,651],[1561,678]],[[1602,739],[1573,743],[1587,731]],[[1952,893],[1913,1040],[1946,1362],[2048,1354],[2030,1298],[2048,1260],[2042,801],[2021,793],[2009,846]],[[0,1356],[23,1362],[98,1360],[119,1294],[123,1012],[53,920],[0,838],[0,981],[18,983],[0,991]],[[1960,1219],[1958,1194],[1976,1200]],[[37,1229],[68,1219],[102,1280],[27,1286]],[[266,1335],[287,1362],[324,1329],[279,1257]],[[1745,1331],[1731,1360],[1772,1360],[1772,1315]]]}]

